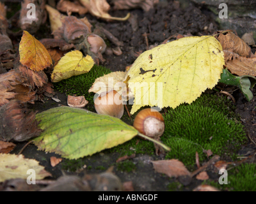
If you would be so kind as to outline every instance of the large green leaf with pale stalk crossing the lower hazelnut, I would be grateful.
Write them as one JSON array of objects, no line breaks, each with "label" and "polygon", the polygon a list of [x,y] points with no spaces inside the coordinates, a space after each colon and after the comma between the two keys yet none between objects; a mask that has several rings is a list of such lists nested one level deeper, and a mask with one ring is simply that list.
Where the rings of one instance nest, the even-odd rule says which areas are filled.
[{"label": "large green leaf with pale stalk crossing the lower hazelnut", "polygon": [[[68,106],[38,113],[36,120],[41,120],[39,128],[44,129],[38,138],[33,139],[38,149],[56,152],[68,159],[115,147],[139,134],[135,128],[115,117]],[[170,150],[166,145],[156,143]]]}]

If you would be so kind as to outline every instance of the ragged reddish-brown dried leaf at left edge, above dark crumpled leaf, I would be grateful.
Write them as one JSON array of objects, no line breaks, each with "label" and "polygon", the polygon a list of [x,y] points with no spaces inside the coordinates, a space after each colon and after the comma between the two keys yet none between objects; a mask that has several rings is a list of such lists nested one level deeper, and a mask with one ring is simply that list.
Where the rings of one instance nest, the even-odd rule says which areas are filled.
[{"label": "ragged reddish-brown dried leaf at left edge, above dark crumpled leaf", "polygon": [[14,70],[0,75],[0,106],[8,103],[8,99],[15,97],[17,93],[10,92],[15,89],[15,85],[24,82],[25,78],[21,77],[19,72]]}]

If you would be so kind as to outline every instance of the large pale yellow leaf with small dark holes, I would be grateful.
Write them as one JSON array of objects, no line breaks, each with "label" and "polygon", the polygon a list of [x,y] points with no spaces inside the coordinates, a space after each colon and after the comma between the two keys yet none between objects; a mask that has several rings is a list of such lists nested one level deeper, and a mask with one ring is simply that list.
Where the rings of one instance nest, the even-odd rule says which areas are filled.
[{"label": "large pale yellow leaf with small dark holes", "polygon": [[142,106],[195,101],[218,83],[223,70],[221,44],[212,36],[188,37],[143,52],[127,72],[134,94],[131,113]]}]

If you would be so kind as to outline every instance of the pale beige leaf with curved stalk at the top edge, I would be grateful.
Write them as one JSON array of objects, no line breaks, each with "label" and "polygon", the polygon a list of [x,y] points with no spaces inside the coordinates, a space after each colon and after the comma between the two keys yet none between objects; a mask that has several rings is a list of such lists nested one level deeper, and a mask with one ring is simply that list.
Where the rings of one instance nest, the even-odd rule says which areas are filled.
[{"label": "pale beige leaf with curved stalk at the top edge", "polygon": [[98,18],[103,18],[105,20],[127,20],[130,17],[130,13],[124,18],[111,17],[108,11],[110,6],[106,0],[79,0],[83,6],[88,8],[88,11]]}]

